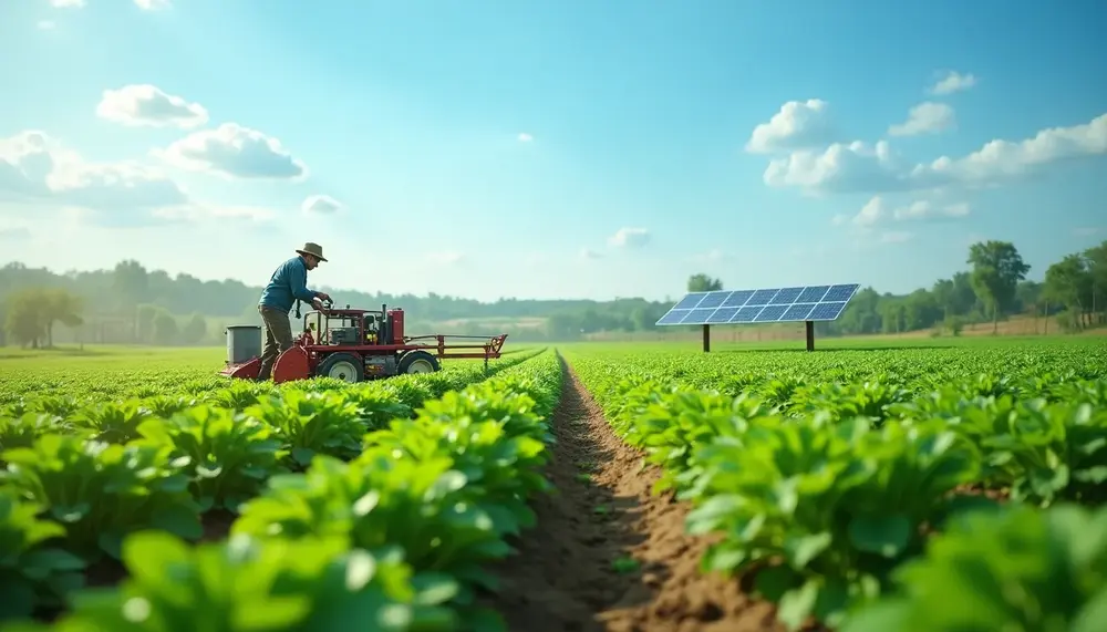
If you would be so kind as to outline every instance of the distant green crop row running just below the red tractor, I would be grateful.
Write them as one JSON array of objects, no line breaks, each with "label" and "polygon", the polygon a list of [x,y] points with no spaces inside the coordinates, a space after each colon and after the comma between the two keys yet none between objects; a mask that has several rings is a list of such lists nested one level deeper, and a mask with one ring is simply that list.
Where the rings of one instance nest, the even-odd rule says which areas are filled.
[{"label": "distant green crop row running just below the red tractor", "polygon": [[[360,437],[393,417],[411,416],[424,401],[441,397],[526,362],[542,350],[500,360],[486,373],[482,366],[463,365],[451,371],[401,375],[390,380],[349,384],[332,379],[272,382],[223,379],[219,388],[148,391],[124,400],[95,396],[39,394],[30,391],[0,406],[0,452],[29,447],[43,434],[75,435],[99,442],[123,444],[145,433],[158,433],[164,419],[175,414],[196,417],[215,414],[234,417],[244,413],[271,428],[271,441],[281,448],[283,465],[304,465],[315,452],[349,457],[360,450]],[[115,376],[118,380],[118,376]],[[362,411],[354,418],[352,405]],[[143,424],[147,421],[153,423]],[[161,421],[159,421],[161,419]],[[3,457],[0,456],[0,463]]]}]

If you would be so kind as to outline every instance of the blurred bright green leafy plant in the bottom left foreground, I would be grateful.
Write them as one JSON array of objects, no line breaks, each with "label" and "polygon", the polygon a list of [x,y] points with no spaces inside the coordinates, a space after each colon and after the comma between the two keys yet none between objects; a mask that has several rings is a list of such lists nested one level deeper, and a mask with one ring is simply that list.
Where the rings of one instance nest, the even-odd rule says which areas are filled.
[{"label": "blurred bright green leafy plant in the bottom left foreground", "polygon": [[73,612],[51,630],[340,632],[359,622],[382,632],[457,629],[442,605],[455,583],[413,573],[395,547],[370,552],[339,540],[236,537],[189,548],[143,532],[127,538],[123,556],[130,578],[79,593]]}]

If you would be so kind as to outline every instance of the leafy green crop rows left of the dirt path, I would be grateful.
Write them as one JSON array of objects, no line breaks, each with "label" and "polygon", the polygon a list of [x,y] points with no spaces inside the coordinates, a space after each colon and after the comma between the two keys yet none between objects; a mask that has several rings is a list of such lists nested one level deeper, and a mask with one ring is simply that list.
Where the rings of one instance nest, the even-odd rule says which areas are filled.
[{"label": "leafy green crop rows left of the dirt path", "polygon": [[[151,414],[134,438],[31,433],[2,454],[0,602],[9,619],[68,612],[4,630],[497,629],[475,597],[548,488],[560,369],[539,353],[412,418],[416,383],[256,400],[242,385]],[[205,533],[220,512],[229,532]],[[86,584],[116,559],[126,579]]]}]

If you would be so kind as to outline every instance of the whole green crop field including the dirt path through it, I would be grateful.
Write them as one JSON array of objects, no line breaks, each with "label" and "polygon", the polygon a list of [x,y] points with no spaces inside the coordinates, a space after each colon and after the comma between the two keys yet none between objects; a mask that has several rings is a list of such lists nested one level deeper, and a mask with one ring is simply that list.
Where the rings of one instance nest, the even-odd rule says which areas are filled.
[{"label": "whole green crop field including the dirt path through it", "polygon": [[1103,339],[817,344],[2,351],[0,630],[1107,629]]}]

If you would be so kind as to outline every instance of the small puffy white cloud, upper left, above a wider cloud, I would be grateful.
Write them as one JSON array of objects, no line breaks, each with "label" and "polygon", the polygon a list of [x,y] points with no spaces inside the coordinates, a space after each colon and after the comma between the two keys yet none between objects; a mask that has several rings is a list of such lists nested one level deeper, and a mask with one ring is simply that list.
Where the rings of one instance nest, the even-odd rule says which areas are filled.
[{"label": "small puffy white cloud, upper left, above a wider cloud", "polygon": [[189,128],[208,122],[207,110],[199,103],[188,103],[149,84],[105,90],[96,116],[123,125],[149,127]]}]

